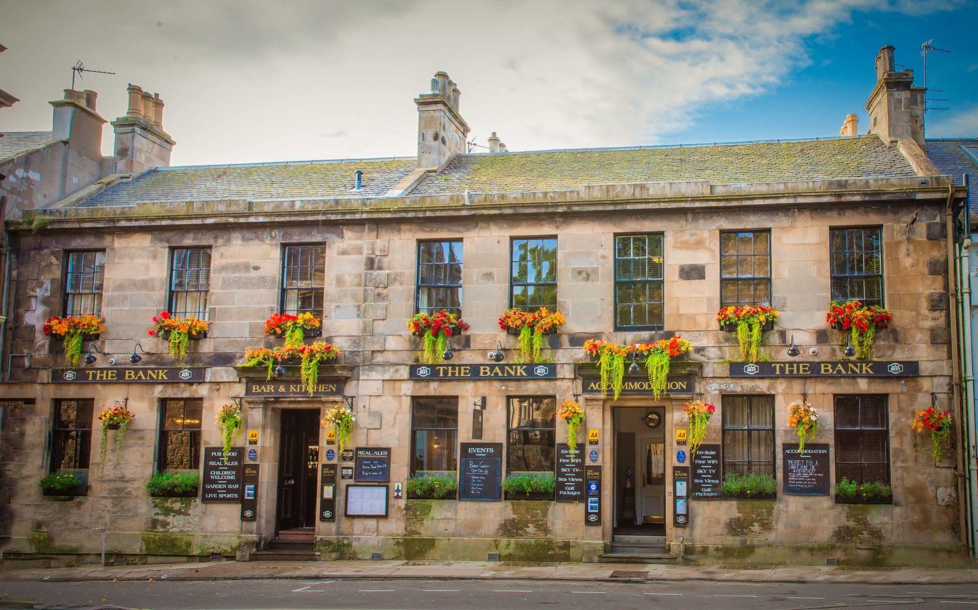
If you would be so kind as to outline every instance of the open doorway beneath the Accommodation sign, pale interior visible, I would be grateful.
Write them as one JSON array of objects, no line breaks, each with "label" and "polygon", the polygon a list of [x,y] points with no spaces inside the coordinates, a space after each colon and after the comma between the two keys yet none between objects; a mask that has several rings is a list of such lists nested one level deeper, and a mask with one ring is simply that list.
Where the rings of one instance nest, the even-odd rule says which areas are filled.
[{"label": "open doorway beneath the Accommodation sign, pale interior visible", "polygon": [[614,533],[664,536],[665,408],[616,408],[614,430]]}]

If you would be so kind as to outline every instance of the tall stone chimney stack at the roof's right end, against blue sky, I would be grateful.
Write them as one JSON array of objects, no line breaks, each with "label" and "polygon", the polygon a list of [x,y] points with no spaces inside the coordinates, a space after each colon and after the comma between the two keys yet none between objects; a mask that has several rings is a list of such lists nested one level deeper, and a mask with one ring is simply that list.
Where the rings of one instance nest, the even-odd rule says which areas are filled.
[{"label": "tall stone chimney stack at the roof's right end, against blue sky", "polygon": [[913,85],[913,70],[896,71],[894,48],[890,45],[876,55],[876,86],[866,109],[869,133],[886,142],[913,140],[924,149],[923,109],[927,90]]}]

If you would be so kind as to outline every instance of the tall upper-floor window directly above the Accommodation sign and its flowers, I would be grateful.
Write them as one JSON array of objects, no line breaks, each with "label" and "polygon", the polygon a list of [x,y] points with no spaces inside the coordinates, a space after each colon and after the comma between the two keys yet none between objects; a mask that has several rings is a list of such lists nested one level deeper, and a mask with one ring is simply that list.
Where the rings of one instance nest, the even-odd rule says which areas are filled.
[{"label": "tall upper-floor window directly above the Accommodation sign and its flowers", "polygon": [[661,330],[662,236],[616,237],[614,277],[615,327]]}]

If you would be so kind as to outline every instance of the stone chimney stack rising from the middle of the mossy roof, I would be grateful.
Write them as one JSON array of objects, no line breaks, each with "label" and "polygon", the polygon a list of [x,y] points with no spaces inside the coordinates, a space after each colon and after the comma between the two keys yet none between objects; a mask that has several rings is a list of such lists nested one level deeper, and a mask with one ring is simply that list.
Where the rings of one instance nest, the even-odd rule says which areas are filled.
[{"label": "stone chimney stack rising from the middle of the mossy roof", "polygon": [[418,167],[440,170],[456,154],[466,152],[468,124],[459,113],[462,92],[445,72],[431,79],[431,93],[418,105]]}]

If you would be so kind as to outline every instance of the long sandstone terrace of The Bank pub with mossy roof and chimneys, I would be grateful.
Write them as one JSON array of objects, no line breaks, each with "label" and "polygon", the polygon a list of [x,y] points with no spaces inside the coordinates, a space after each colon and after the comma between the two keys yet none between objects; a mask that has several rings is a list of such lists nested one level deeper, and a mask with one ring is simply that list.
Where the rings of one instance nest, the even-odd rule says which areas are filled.
[{"label": "long sandstone terrace of The Bank pub with mossy roof and chimneys", "polygon": [[[87,93],[54,103],[56,132],[62,109],[101,128]],[[104,528],[110,559],[135,563],[968,562],[966,426],[935,459],[911,421],[932,406],[966,421],[971,404],[949,286],[970,228],[960,163],[978,141],[924,138],[924,90],[892,47],[876,58],[868,133],[850,115],[841,137],[800,141],[511,152],[494,133],[472,153],[460,90],[438,72],[415,100],[417,157],[169,167],[162,104],[129,95],[111,157],[58,132],[0,159],[7,561],[98,560]],[[66,153],[86,178],[27,166]],[[29,187],[16,199],[13,182]],[[892,312],[871,360],[848,358],[849,334],[826,323],[830,301],[849,299]],[[757,362],[717,322],[747,305],[779,311]],[[518,362],[498,319],[541,306],[566,324],[539,362]],[[180,362],[147,334],[161,310],[209,323]],[[469,327],[422,363],[407,323],[441,310]],[[264,333],[271,315],[303,312],[322,318],[305,340],[340,350],[312,396],[294,363],[242,366],[247,349],[282,344]],[[71,368],[42,328],[81,314],[106,330]],[[676,335],[691,352],[672,360],[665,396],[635,350],[621,396],[602,396],[588,339]],[[716,414],[693,457],[683,408],[697,399]],[[585,414],[575,457],[565,401]],[[802,454],[788,425],[800,401],[821,421]],[[225,458],[227,404],[244,423]],[[136,416],[101,452],[98,414],[113,406]],[[320,423],[342,406],[356,417],[345,453]],[[151,497],[158,472],[198,473],[199,489]],[[49,473],[83,485],[45,496]],[[503,491],[528,474],[556,489]],[[408,482],[424,475],[459,491],[415,498]],[[732,475],[773,478],[774,492],[725,493]],[[843,498],[842,479],[878,493]]]}]

